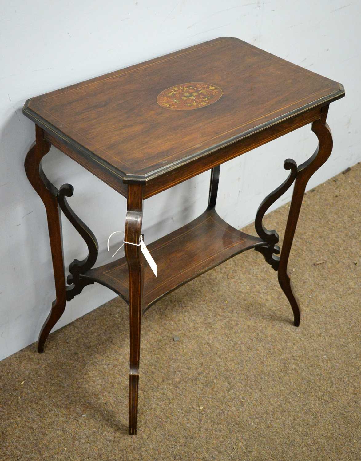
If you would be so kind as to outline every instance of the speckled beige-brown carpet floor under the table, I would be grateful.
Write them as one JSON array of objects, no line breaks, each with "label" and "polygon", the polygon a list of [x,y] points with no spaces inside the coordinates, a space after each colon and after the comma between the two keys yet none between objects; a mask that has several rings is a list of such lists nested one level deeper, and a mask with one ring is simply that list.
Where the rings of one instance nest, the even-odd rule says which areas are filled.
[{"label": "speckled beige-brown carpet floor under the table", "polygon": [[[117,298],[0,362],[0,459],[360,460],[360,182],[355,165],[305,196],[299,328],[253,250],[166,296],[143,317],[131,437]],[[287,211],[266,225],[282,235]]]}]

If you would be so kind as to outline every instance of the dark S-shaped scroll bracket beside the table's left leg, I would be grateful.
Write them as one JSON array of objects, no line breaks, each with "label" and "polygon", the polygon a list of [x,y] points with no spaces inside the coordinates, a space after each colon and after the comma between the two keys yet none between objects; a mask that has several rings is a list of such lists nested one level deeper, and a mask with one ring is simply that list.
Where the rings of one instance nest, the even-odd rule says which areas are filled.
[{"label": "dark S-shaped scroll bracket beside the table's left leg", "polygon": [[69,266],[69,272],[71,275],[68,275],[66,279],[67,283],[70,284],[66,287],[67,301],[71,301],[74,296],[78,295],[83,290],[84,286],[94,283],[89,280],[82,279],[80,276],[89,271],[95,265],[99,251],[99,245],[95,235],[89,229],[89,227],[73,212],[65,198],[71,197],[73,193],[74,188],[71,184],[63,184],[58,192],[59,207],[65,216],[69,219],[71,224],[78,231],[80,236],[83,237],[83,240],[87,244],[89,254],[82,261],[75,259]]}]

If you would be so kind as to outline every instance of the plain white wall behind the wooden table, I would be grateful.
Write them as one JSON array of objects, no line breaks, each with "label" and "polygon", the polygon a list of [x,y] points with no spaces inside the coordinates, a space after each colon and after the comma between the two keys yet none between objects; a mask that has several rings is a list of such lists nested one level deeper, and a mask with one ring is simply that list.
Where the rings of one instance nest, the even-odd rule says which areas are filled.
[{"label": "plain white wall behind the wooden table", "polygon": [[[218,36],[238,37],[345,86],[346,97],[329,111],[333,153],[311,179],[312,188],[361,159],[360,16],[357,0],[3,1],[0,359],[36,341],[54,299],[45,210],[23,166],[34,140],[34,124],[21,112],[27,98]],[[304,127],[223,165],[219,213],[237,228],[253,221],[260,201],[288,174],[283,160],[301,162],[315,145],[310,127]],[[55,148],[44,170],[57,187],[74,186],[69,202],[95,232],[105,261],[107,236],[124,228],[124,198]],[[204,173],[145,202],[146,242],[204,210],[208,178]],[[289,200],[290,191],[274,207]],[[68,267],[86,248],[65,217],[63,231]],[[87,287],[67,305],[56,328],[113,296],[100,285]]]}]

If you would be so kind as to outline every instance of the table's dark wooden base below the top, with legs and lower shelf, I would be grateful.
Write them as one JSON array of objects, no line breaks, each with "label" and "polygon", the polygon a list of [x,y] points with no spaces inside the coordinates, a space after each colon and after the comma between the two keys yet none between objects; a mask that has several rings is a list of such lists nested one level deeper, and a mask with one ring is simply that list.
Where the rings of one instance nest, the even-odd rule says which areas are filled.
[{"label": "table's dark wooden base below the top, with legs and lower shelf", "polygon": [[[130,306],[130,434],[136,434],[137,425],[141,318],[142,314],[162,296],[232,256],[254,248],[278,272],[280,287],[292,308],[294,325],[300,324],[299,302],[292,288],[287,264],[306,185],[309,178],[331,154],[332,137],[326,124],[329,103],[343,95],[344,90],[341,86],[338,92],[333,92],[328,98],[324,97],[317,100],[314,104],[303,108],[302,111],[290,112],[286,118],[273,120],[272,123],[262,126],[261,129],[254,130],[249,136],[209,150],[206,155],[195,157],[183,163],[180,162],[176,168],[158,171],[157,174],[150,175],[146,180],[134,175],[119,180],[116,171],[104,167],[90,155],[84,156],[82,149],[77,146],[76,142],[65,136],[64,133],[60,134],[50,129],[46,120],[31,111],[29,101],[25,104],[24,114],[36,123],[36,142],[26,156],[25,171],[31,185],[45,205],[56,292],[56,299],[53,301],[49,316],[41,328],[38,351],[43,352],[47,336],[63,314],[66,303],[77,296],[86,285],[98,282],[121,296]],[[215,211],[220,165],[307,124],[312,124],[312,131],[318,138],[318,147],[314,154],[299,166],[294,160],[287,159],[284,161],[284,168],[290,171],[289,176],[284,183],[262,201],[255,215],[254,225],[258,236],[247,235],[225,223]],[[147,263],[143,265],[140,247],[127,243],[124,246],[125,257],[93,268],[98,255],[98,243],[93,233],[71,210],[66,200],[66,197],[73,194],[72,186],[64,184],[58,190],[48,181],[42,171],[41,160],[51,145],[85,166],[127,198],[124,241],[131,243],[139,242],[142,235],[142,214],[145,199],[190,177],[195,177],[203,171],[211,171],[209,201],[206,211],[178,231],[174,231],[148,245],[149,251],[158,264],[165,260],[171,251],[174,267],[168,267],[167,277],[163,275],[162,279],[154,278],[149,272]],[[277,232],[267,230],[262,224],[262,219],[272,203],[283,195],[293,183],[294,190],[284,232],[282,251],[280,252],[277,245]],[[64,212],[83,237],[89,249],[87,258],[82,261],[74,260],[70,264],[70,275],[67,280],[65,280],[60,210]],[[170,242],[172,242],[171,247],[168,246]],[[202,249],[204,257],[197,252],[196,248]],[[145,272],[148,273],[148,276],[145,275]],[[148,277],[147,289],[144,290],[146,277]]]}]

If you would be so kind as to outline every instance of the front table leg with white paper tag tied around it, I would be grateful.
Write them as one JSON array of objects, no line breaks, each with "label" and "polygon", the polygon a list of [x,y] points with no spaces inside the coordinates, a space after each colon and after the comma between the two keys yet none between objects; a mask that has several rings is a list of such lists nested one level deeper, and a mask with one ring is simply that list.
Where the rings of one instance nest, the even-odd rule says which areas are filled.
[{"label": "front table leg with white paper tag tied around it", "polygon": [[[139,243],[142,232],[143,187],[128,186],[127,217],[124,242]],[[129,433],[136,434],[138,416],[138,383],[140,333],[142,319],[143,259],[139,246],[124,244],[129,270],[129,325],[130,325],[130,374],[129,374]]]}]

